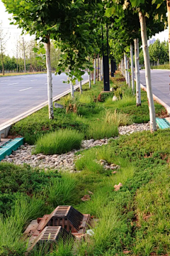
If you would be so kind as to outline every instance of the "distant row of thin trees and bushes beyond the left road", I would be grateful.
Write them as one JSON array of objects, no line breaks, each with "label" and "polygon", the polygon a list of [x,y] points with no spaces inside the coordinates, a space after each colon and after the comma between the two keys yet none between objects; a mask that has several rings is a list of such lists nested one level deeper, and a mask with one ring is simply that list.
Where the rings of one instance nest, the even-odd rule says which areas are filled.
[{"label": "distant row of thin trees and bushes beyond the left road", "polygon": [[[6,41],[10,34],[5,33],[0,23],[0,72],[35,72],[46,70],[45,63],[45,48],[44,53],[42,51],[38,54],[40,46],[35,40],[25,41],[23,37],[20,37],[16,43],[11,46],[13,49],[13,57],[6,55]],[[33,50],[36,48],[36,50]],[[51,65],[52,70],[55,71],[58,61],[60,59],[60,49],[55,48],[54,43],[51,45]]]}]

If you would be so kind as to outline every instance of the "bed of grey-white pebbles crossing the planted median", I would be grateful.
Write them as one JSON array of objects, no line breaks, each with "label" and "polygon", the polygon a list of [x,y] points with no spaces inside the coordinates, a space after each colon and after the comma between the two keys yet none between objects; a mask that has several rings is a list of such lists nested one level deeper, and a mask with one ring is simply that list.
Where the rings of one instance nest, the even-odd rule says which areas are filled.
[{"label": "bed of grey-white pebbles crossing the planted median", "polygon": [[[119,127],[119,134],[132,134],[133,132],[142,132],[149,130],[149,123],[147,124],[132,124],[125,127]],[[109,139],[89,139],[84,140],[82,142],[82,147],[80,150],[72,150],[66,154],[55,154],[50,156],[45,156],[43,154],[31,154],[31,151],[34,146],[30,146],[28,144],[22,145],[18,150],[13,151],[13,154],[10,156],[6,156],[6,159],[2,160],[2,162],[10,162],[14,164],[29,164],[33,167],[38,167],[40,169],[57,169],[57,170],[69,170],[71,173],[76,171],[74,161],[81,157],[81,154],[74,155],[77,151],[82,151],[84,149],[89,149],[94,146],[102,146],[108,144],[111,139],[118,139],[109,138]],[[111,166],[113,167],[113,166]],[[115,168],[113,168],[115,169]]]}]

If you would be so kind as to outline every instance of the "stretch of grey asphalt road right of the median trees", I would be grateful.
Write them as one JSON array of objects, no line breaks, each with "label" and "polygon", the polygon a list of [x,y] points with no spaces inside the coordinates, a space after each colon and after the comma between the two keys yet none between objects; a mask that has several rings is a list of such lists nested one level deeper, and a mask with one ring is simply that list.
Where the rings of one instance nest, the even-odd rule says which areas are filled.
[{"label": "stretch of grey asphalt road right of the median trees", "polygon": [[[170,70],[152,70],[152,93],[170,107]],[[140,70],[140,82],[146,86],[145,70]]]}]

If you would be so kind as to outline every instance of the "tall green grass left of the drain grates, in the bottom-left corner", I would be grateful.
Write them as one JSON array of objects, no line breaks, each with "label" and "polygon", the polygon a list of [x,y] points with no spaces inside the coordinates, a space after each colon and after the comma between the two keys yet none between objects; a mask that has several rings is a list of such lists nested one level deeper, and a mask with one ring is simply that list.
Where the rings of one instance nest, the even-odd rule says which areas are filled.
[{"label": "tall green grass left of the drain grates, in the bottom-left corner", "polygon": [[23,240],[22,233],[28,221],[45,213],[45,201],[35,196],[29,198],[23,194],[16,196],[16,204],[11,215],[0,218],[0,252],[1,255],[24,255],[28,241]]}]

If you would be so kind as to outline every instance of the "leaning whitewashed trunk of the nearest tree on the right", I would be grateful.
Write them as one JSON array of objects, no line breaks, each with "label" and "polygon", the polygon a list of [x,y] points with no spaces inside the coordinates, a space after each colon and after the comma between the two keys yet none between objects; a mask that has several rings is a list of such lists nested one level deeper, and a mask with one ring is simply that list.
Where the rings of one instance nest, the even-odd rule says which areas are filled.
[{"label": "leaning whitewashed trunk of the nearest tree on the right", "polygon": [[147,46],[147,28],[146,28],[146,19],[145,15],[140,11],[140,27],[141,27],[141,37],[142,37],[142,46],[145,59],[145,78],[147,85],[147,99],[149,104],[149,116],[150,116],[150,130],[151,132],[157,131],[156,117],[154,111],[154,99],[152,95],[152,83],[151,83],[151,71],[149,63],[149,49]]}]

